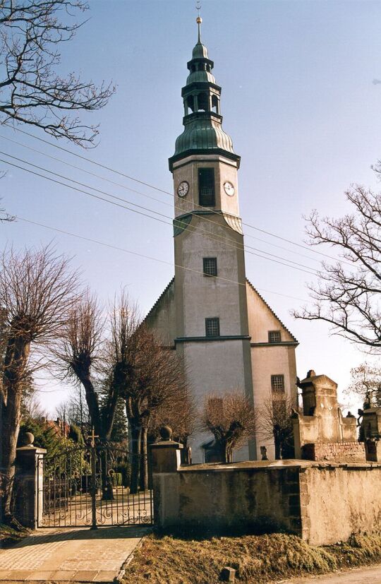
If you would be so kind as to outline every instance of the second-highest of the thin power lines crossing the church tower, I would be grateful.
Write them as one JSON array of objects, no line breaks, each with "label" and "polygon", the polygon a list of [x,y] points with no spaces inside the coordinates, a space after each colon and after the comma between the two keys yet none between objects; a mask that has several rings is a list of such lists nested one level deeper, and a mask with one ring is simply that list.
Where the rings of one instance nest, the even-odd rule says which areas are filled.
[{"label": "second-highest of the thin power lines crossing the church tower", "polygon": [[[167,201],[162,201],[162,199],[159,199],[159,198],[156,198],[156,197],[152,197],[150,195],[147,195],[147,193],[142,193],[141,191],[136,191],[135,189],[131,189],[131,187],[126,186],[125,184],[121,184],[119,182],[112,181],[111,179],[108,179],[107,177],[102,177],[101,174],[96,174],[95,172],[90,172],[90,170],[86,170],[86,169],[84,169],[82,167],[79,167],[79,166],[76,166],[76,165],[72,165],[71,162],[67,162],[66,160],[62,160],[61,158],[58,158],[56,156],[52,156],[51,154],[42,152],[41,150],[37,150],[37,148],[32,148],[32,146],[28,146],[27,144],[23,144],[22,142],[18,142],[17,140],[13,140],[12,138],[8,138],[7,136],[3,136],[2,134],[0,134],[0,138],[3,138],[4,140],[7,140],[7,141],[12,142],[14,144],[17,144],[19,146],[22,146],[23,148],[27,148],[28,150],[31,150],[32,152],[35,152],[35,153],[40,154],[42,156],[48,157],[51,160],[54,160],[56,162],[61,162],[61,164],[66,165],[66,166],[71,167],[71,168],[75,168],[76,170],[79,170],[80,172],[85,172],[85,174],[89,174],[91,177],[95,177],[97,179],[101,179],[102,181],[109,182],[110,184],[114,184],[115,186],[119,186],[121,189],[126,189],[126,191],[131,191],[131,193],[135,193],[135,194],[140,195],[140,196],[143,196],[145,198],[149,198],[151,201],[156,201],[157,203],[160,203],[161,205],[167,205],[168,207],[171,207],[172,208],[172,204],[171,203],[167,203]],[[17,159],[17,160],[21,160],[21,159]],[[30,164],[30,163],[28,162],[28,164]],[[48,172],[50,172],[50,171],[48,171]],[[92,187],[90,187],[90,188],[92,188]],[[175,209],[181,209],[181,210],[183,210],[183,208],[181,208],[179,205],[176,205],[176,198],[174,197],[174,195],[171,195],[171,197],[174,198],[174,208]],[[131,203],[131,204],[133,204],[133,203]],[[195,204],[195,206],[197,206],[198,208],[203,208],[203,207],[201,207],[201,205],[196,205]],[[213,211],[213,213],[215,213],[216,215],[219,215],[219,213],[217,213],[216,211]],[[203,221],[207,221],[207,222],[213,223],[212,220],[208,219],[207,217],[203,217],[202,215],[199,215],[199,217]],[[171,217],[169,217],[169,218],[171,218]],[[222,225],[221,227],[224,227],[225,230],[230,230],[230,228],[227,227],[227,226],[223,226]],[[262,242],[262,243],[265,243],[267,245],[270,245],[270,246],[273,246],[273,247],[277,247],[278,249],[283,249],[284,251],[287,251],[289,254],[294,254],[296,256],[301,256],[302,258],[306,258],[309,261],[317,261],[317,262],[320,262],[320,259],[311,258],[310,256],[306,256],[304,254],[301,254],[300,251],[293,251],[291,249],[285,248],[284,246],[279,246],[277,244],[272,244],[271,242],[267,242],[266,239],[260,239],[260,237],[255,237],[254,235],[250,235],[248,233],[245,233],[244,235],[245,235],[245,237],[249,237],[250,239],[255,239],[258,242]],[[250,246],[248,246],[246,244],[246,247],[250,247]],[[255,248],[253,248],[253,249],[255,249]],[[258,250],[258,251],[260,251],[260,250]],[[311,250],[309,249],[308,251],[311,251]],[[268,254],[269,252],[262,251],[262,253]]]}]

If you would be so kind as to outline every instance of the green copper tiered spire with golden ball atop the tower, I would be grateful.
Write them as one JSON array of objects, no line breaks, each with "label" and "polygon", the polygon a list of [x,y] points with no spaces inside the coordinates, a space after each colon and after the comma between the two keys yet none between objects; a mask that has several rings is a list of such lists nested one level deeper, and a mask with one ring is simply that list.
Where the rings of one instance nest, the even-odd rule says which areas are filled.
[{"label": "green copper tiered spire with golden ball atop the tower", "polygon": [[[200,10],[200,6],[197,7]],[[222,129],[220,112],[221,87],[217,85],[212,69],[213,61],[209,59],[207,47],[201,42],[200,13],[196,18],[198,41],[188,61],[189,75],[186,85],[181,90],[184,105],[184,131],[176,140],[174,155],[169,159],[169,168],[182,157],[192,154],[218,153],[236,160],[240,157],[234,153],[233,143]]]}]

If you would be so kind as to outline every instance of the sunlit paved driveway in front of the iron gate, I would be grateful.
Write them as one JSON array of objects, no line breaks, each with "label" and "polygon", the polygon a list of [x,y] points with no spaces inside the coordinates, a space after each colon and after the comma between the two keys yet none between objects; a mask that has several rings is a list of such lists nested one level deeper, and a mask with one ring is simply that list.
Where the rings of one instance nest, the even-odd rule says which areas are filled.
[{"label": "sunlit paved driveway in front of the iron gate", "polygon": [[111,583],[149,532],[139,526],[40,529],[11,549],[0,550],[0,584]]}]

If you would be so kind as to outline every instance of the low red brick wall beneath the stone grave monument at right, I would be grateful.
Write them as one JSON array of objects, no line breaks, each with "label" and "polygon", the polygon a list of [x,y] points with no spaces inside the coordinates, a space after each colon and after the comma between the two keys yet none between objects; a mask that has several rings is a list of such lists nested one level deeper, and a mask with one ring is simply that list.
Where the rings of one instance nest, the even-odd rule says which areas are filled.
[{"label": "low red brick wall beneath the stone grave monument at right", "polygon": [[329,460],[340,463],[362,463],[365,460],[363,442],[315,442],[302,447],[305,460]]}]

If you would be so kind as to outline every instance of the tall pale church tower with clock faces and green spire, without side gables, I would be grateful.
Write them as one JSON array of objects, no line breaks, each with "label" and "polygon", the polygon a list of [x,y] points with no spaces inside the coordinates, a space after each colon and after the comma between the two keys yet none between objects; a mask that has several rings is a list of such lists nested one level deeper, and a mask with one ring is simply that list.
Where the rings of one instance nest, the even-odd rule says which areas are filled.
[{"label": "tall pale church tower with clock faces and green spire, without side gables", "polygon": [[[221,88],[200,39],[200,24],[199,17],[198,42],[181,92],[184,131],[169,168],[175,265],[181,266],[175,268],[176,350],[192,371],[196,402],[202,405],[205,394],[229,389],[253,400],[253,376],[238,210],[240,157],[222,129]],[[195,451],[192,441],[191,446]]]}]

